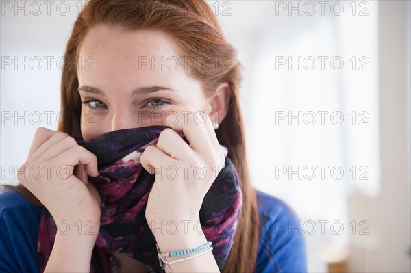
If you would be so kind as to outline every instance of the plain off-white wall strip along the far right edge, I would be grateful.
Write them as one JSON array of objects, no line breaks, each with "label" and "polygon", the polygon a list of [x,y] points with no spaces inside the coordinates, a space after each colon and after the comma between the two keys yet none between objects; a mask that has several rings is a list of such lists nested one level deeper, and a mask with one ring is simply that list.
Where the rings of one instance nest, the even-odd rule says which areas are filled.
[{"label": "plain off-white wall strip along the far right edge", "polygon": [[356,270],[411,272],[410,75],[410,1],[380,1],[381,193],[349,197],[350,218],[372,223],[370,236],[351,238]]}]

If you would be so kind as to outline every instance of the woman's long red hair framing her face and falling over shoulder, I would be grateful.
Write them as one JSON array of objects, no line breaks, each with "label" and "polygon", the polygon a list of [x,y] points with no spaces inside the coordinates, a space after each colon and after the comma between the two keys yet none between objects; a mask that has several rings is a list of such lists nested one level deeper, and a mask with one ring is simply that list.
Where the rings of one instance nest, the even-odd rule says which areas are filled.
[{"label": "woman's long red hair framing her face and falling over shoulder", "polygon": [[[77,79],[79,49],[87,31],[95,25],[121,26],[130,31],[164,31],[177,43],[188,73],[198,79],[206,96],[228,82],[232,90],[229,110],[219,129],[220,144],[228,148],[242,190],[242,211],[234,244],[223,272],[253,272],[256,264],[259,218],[256,193],[251,187],[245,149],[245,131],[240,109],[241,65],[236,50],[225,40],[210,7],[203,0],[90,0],[75,21],[64,55],[61,85],[62,122],[58,131],[79,137],[81,101]],[[201,65],[200,65],[201,64]],[[23,185],[14,187],[32,203],[41,205]]]}]

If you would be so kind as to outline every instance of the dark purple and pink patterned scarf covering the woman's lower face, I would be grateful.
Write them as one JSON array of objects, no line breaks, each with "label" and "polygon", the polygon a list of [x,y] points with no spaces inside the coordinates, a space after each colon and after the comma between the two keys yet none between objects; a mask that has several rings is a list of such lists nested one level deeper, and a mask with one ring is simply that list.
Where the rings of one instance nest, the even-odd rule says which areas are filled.
[{"label": "dark purple and pink patterned scarf covering the woman's lower face", "polygon": [[[105,133],[88,142],[78,141],[79,145],[97,156],[100,174],[99,177],[88,177],[101,196],[101,226],[92,253],[90,272],[108,272],[108,255],[104,250],[127,253],[162,271],[155,237],[145,218],[147,198],[155,176],[142,168],[140,155],[147,146],[158,142],[158,136],[166,128],[123,129]],[[184,138],[182,131],[177,133]],[[226,154],[225,167],[204,197],[199,213],[201,227],[208,241],[212,242],[212,253],[220,270],[232,247],[241,207],[238,174]],[[38,231],[40,272],[45,270],[56,231],[51,214],[44,208]]]}]

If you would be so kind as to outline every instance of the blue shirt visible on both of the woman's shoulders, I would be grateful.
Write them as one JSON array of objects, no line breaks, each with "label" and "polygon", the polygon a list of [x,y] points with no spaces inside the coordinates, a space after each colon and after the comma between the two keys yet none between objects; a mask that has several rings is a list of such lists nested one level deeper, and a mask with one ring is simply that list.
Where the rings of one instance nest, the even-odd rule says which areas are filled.
[{"label": "blue shirt visible on both of the woman's shoulders", "polygon": [[[299,220],[284,201],[257,192],[260,242],[255,272],[307,272]],[[0,194],[0,272],[38,272],[40,207],[15,190]]]}]

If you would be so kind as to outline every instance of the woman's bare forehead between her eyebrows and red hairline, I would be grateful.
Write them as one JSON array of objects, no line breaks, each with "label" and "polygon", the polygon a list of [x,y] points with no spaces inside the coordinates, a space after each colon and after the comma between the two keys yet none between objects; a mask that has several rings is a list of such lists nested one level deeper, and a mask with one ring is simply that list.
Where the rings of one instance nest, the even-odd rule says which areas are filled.
[{"label": "woman's bare forehead between her eyebrows and red hairline", "polygon": [[121,88],[155,84],[177,88],[181,81],[194,81],[171,36],[162,31],[129,31],[106,25],[92,27],[84,37],[77,75],[80,83],[99,87],[118,83]]}]

